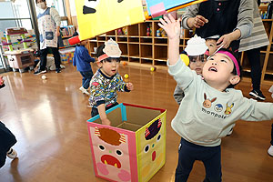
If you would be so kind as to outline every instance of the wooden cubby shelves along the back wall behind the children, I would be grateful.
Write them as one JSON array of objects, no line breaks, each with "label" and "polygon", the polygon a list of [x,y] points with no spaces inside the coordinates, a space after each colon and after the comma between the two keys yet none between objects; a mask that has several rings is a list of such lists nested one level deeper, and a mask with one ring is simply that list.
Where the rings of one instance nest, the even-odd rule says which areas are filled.
[{"label": "wooden cubby shelves along the back wall behind the children", "polygon": [[[157,36],[158,20],[149,20],[141,24],[128,25],[121,29],[107,32],[104,35],[98,35],[88,41],[88,50],[91,56],[95,56],[96,47],[104,44],[106,40],[112,38],[118,43],[122,55],[121,61],[126,61],[128,65],[135,66],[157,66],[159,69],[167,69],[167,36]],[[273,19],[263,20],[269,37],[269,45],[261,48],[261,81],[272,81],[273,77]],[[149,31],[147,31],[149,27]],[[148,32],[148,33],[147,33]],[[189,30],[183,30],[180,39],[180,52],[185,49],[187,40],[192,36]],[[242,53],[241,65],[247,77],[250,73],[248,57]],[[270,80],[271,79],[271,80]]]}]

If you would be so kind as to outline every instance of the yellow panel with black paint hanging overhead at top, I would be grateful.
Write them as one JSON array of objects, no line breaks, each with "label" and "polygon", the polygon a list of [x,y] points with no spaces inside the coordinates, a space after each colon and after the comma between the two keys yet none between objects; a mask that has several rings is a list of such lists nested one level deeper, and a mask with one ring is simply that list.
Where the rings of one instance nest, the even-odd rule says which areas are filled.
[{"label": "yellow panel with black paint hanging overhead at top", "polygon": [[79,39],[144,22],[141,0],[76,0]]}]

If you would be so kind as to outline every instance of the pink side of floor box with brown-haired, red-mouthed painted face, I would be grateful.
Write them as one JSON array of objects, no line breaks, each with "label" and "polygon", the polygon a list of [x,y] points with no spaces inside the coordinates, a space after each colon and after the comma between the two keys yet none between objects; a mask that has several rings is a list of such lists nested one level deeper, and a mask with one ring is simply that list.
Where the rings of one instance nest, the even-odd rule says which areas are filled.
[{"label": "pink side of floor box with brown-haired, red-mouthed painted face", "polygon": [[115,181],[131,179],[127,136],[107,127],[91,128],[98,174]]}]

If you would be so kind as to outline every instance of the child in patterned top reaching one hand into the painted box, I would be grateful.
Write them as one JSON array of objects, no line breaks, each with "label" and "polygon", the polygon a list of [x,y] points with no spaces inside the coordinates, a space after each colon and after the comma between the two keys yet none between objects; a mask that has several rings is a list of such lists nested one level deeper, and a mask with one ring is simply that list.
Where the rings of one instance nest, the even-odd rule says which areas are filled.
[{"label": "child in patterned top reaching one hand into the painted box", "polygon": [[106,110],[118,105],[116,92],[130,92],[134,89],[132,83],[125,83],[118,74],[120,56],[119,46],[112,39],[96,49],[99,69],[90,82],[89,104],[92,107],[91,116],[99,115],[103,125],[111,125]]}]

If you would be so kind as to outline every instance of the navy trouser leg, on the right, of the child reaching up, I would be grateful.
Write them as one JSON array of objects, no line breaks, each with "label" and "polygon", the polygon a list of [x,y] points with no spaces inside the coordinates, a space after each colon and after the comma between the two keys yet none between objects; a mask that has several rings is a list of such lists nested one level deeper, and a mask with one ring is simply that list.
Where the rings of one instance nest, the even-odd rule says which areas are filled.
[{"label": "navy trouser leg, on the right, of the child reaching up", "polygon": [[203,153],[202,162],[206,168],[206,178],[204,182],[220,182],[222,181],[221,170],[221,147],[209,147]]}]

